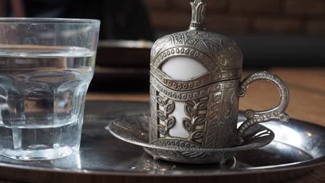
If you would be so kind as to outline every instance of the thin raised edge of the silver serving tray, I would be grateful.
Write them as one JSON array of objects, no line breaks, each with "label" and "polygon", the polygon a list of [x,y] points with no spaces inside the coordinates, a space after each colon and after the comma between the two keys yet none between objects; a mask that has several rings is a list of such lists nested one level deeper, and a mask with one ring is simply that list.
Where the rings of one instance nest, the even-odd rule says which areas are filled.
[{"label": "thin raised edge of the silver serving tray", "polygon": [[[137,101],[100,101],[100,100],[88,100],[89,102],[93,103],[143,103],[148,104],[148,102],[137,102]],[[240,112],[240,114],[244,114]],[[317,125],[315,123],[310,123],[308,121],[301,121],[299,119],[290,119],[292,123],[308,123],[309,125],[313,125],[314,128],[323,128],[325,131],[325,127],[322,125]],[[263,125],[263,124],[261,124]],[[276,140],[274,140],[276,141]],[[277,141],[279,143],[283,143]],[[39,160],[42,161],[42,160]],[[303,162],[295,162],[290,164],[281,164],[281,165],[274,165],[274,166],[259,166],[259,167],[251,167],[245,168],[243,170],[227,170],[227,171],[216,171],[214,173],[191,173],[191,174],[161,174],[161,173],[150,173],[150,172],[124,172],[124,171],[78,171],[76,169],[68,169],[68,168],[44,168],[44,167],[36,167],[36,166],[25,166],[25,165],[17,165],[17,164],[6,164],[0,162],[0,169],[1,168],[11,168],[15,171],[33,171],[37,173],[56,173],[56,174],[63,174],[63,175],[87,175],[87,176],[127,176],[127,177],[215,177],[215,176],[227,176],[227,175],[251,175],[256,173],[276,173],[280,171],[295,171],[295,170],[303,170],[306,168],[316,168],[317,166],[325,165],[325,155],[322,157],[317,157],[315,159],[310,159]],[[14,180],[14,179],[12,179]]]}]

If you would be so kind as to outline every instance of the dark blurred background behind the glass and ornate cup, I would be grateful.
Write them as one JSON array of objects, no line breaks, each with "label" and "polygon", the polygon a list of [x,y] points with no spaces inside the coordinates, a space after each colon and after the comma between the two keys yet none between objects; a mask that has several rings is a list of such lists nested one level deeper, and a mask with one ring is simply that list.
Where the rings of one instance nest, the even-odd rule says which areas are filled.
[{"label": "dark blurred background behind the glass and ornate cup", "polygon": [[[206,2],[207,30],[242,46],[244,69],[325,66],[324,0]],[[1,17],[100,19],[91,91],[147,92],[152,42],[186,30],[190,14],[190,0],[0,0]]]}]

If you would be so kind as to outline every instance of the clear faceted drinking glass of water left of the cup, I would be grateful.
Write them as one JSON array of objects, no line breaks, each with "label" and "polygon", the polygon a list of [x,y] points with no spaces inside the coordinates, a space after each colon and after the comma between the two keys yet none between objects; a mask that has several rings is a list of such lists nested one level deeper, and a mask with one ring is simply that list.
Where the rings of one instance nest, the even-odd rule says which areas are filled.
[{"label": "clear faceted drinking glass of water left of the cup", "polygon": [[0,18],[0,155],[78,152],[99,20]]}]

